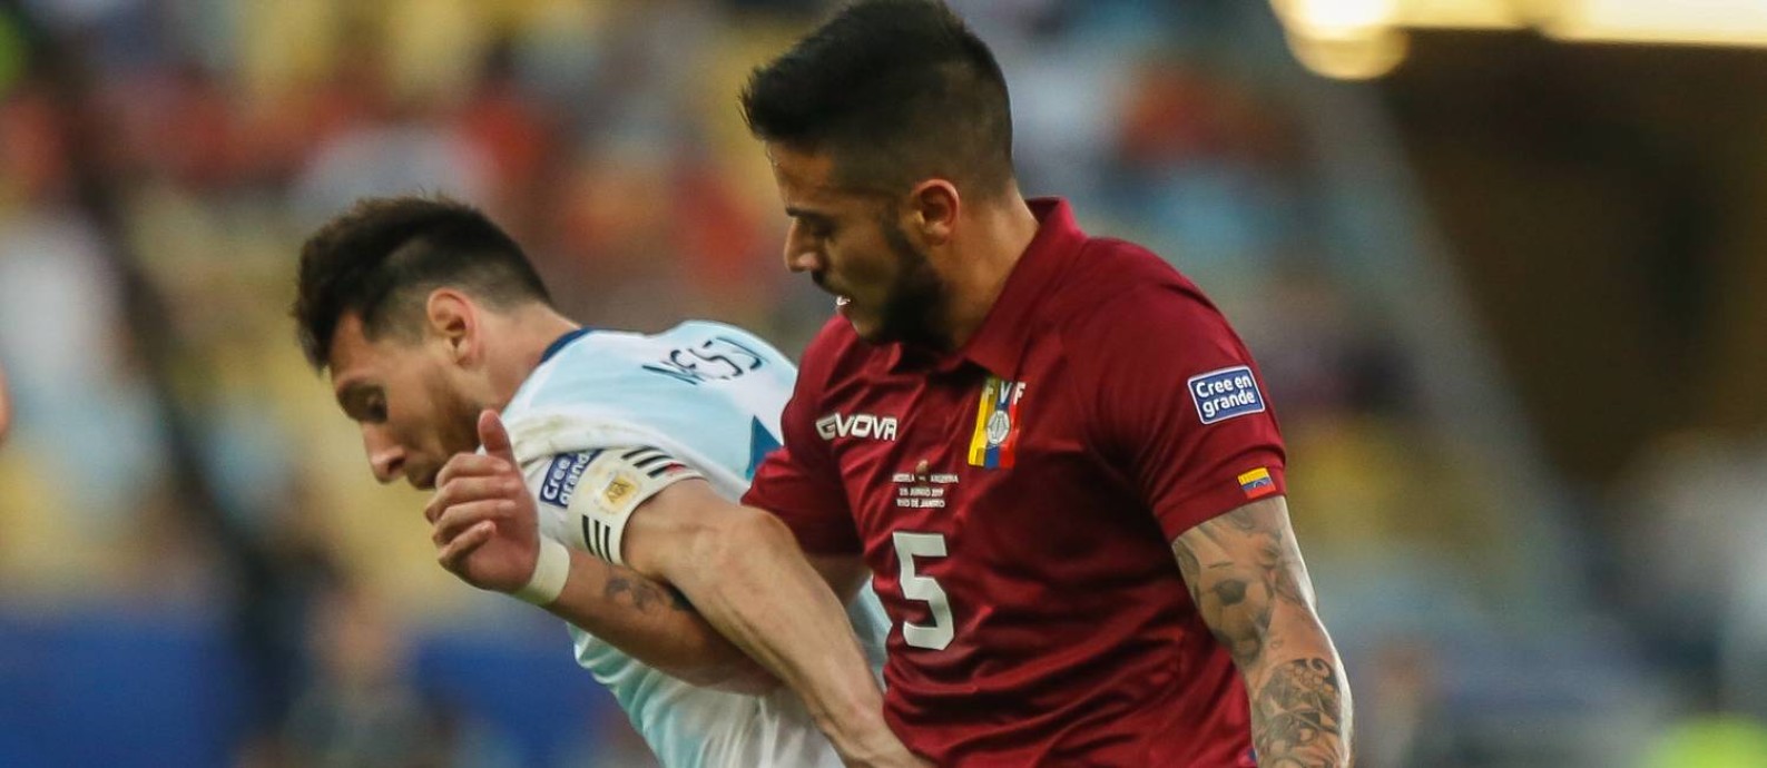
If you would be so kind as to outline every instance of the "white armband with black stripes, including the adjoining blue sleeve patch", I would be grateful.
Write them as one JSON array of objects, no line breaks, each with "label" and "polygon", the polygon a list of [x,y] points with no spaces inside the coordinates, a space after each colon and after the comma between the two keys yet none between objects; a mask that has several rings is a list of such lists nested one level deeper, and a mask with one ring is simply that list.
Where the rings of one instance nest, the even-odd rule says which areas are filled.
[{"label": "white armband with black stripes, including the adjoining blue sleeve patch", "polygon": [[541,477],[539,500],[565,510],[580,549],[626,565],[620,540],[638,505],[680,480],[703,477],[661,448],[603,448],[555,456]]}]

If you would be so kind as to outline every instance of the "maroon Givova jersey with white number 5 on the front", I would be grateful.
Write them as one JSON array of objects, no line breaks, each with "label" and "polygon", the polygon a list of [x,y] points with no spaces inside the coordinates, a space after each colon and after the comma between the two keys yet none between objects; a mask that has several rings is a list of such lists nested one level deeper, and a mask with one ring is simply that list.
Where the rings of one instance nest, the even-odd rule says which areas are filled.
[{"label": "maroon Givova jersey with white number 5 on the front", "polygon": [[885,715],[940,766],[1251,766],[1244,685],[1168,542],[1283,493],[1256,367],[1152,252],[1032,210],[961,351],[822,330],[746,501],[864,556]]}]

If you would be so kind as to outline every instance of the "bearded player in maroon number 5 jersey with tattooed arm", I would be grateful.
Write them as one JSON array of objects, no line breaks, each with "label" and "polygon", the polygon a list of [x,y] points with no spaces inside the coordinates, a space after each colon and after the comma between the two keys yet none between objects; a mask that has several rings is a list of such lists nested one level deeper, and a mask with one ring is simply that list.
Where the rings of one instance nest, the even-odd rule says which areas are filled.
[{"label": "bearded player in maroon number 5 jersey with tattooed arm", "polygon": [[839,314],[744,501],[869,567],[903,742],[938,764],[1348,764],[1251,355],[1157,256],[1020,196],[988,46],[938,2],[864,0],[742,108],[786,265]]}]

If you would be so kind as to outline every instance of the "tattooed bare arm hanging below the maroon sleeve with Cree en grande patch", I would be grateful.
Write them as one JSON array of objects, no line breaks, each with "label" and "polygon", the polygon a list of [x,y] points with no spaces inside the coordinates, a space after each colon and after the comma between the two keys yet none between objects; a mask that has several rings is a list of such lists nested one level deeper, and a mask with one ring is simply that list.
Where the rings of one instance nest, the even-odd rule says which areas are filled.
[{"label": "tattooed bare arm hanging below the maroon sleeve with Cree en grande patch", "polygon": [[1350,687],[1320,623],[1281,498],[1253,501],[1172,542],[1191,599],[1251,694],[1260,766],[1350,764]]}]

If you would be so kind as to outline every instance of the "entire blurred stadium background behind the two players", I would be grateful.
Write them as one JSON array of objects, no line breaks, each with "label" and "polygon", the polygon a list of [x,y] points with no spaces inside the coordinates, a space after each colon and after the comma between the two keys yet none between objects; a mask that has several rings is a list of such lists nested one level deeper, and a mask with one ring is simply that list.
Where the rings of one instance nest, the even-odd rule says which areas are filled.
[{"label": "entire blurred stadium background behind the two players", "polygon": [[[645,764],[371,482],[295,247],[449,192],[800,350],[735,92],[827,5],[0,0],[0,766]],[[1767,766],[1767,4],[954,5],[1260,357],[1362,766]]]}]

